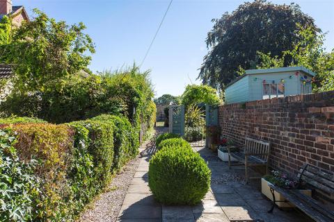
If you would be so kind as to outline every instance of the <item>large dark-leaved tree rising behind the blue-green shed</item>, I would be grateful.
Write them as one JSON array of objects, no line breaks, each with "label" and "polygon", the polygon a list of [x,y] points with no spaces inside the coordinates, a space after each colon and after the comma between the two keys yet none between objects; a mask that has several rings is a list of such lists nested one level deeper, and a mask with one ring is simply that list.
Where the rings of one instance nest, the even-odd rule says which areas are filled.
[{"label": "large dark-leaved tree rising behind the blue-green shed", "polygon": [[238,76],[239,67],[255,68],[257,51],[280,57],[301,40],[294,32],[296,29],[312,27],[312,31],[320,31],[312,17],[298,5],[278,5],[265,0],[246,2],[212,22],[214,26],[206,40],[209,53],[198,78],[220,89]]}]

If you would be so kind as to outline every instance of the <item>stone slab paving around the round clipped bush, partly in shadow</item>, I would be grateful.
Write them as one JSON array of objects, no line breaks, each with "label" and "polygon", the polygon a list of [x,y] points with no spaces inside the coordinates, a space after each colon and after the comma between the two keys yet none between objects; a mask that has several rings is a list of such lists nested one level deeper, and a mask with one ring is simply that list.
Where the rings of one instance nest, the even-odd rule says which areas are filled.
[{"label": "stone slab paving around the round clipped bush, partly in shadow", "polygon": [[[152,147],[143,152],[118,221],[312,221],[296,211],[287,212],[276,208],[273,214],[268,214],[271,202],[262,196],[256,184],[244,185],[243,167],[229,170],[228,164],[214,158],[216,153],[206,148],[196,150],[204,159],[209,157],[209,160],[212,160],[207,163],[212,170],[213,182],[202,203],[195,206],[166,206],[154,200],[148,187],[148,160],[154,153]],[[234,180],[225,180],[227,177]]]}]

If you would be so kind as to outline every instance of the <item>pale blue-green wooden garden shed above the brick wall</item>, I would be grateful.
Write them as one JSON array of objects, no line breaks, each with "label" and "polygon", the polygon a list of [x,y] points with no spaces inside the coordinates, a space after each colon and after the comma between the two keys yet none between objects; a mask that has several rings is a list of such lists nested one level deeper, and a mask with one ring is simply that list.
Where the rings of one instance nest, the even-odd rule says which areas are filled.
[{"label": "pale blue-green wooden garden shed above the brick wall", "polygon": [[225,103],[312,93],[315,73],[305,67],[248,69],[226,86]]}]

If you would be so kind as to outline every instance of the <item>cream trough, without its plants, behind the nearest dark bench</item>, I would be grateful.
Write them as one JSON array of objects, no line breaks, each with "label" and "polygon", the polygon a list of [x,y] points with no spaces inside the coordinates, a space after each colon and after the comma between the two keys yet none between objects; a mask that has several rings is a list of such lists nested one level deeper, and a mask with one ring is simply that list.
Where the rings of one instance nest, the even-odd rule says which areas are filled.
[{"label": "cream trough, without its plants, behind the nearest dark bench", "polygon": [[[273,195],[271,194],[270,191],[270,187],[269,185],[271,185],[271,182],[264,180],[264,178],[261,178],[261,192],[262,194],[264,194],[264,196],[267,196],[267,198],[269,198],[271,201],[273,201]],[[302,194],[305,194],[306,196],[312,196],[312,191],[310,189],[301,189],[300,190]],[[280,201],[284,201],[285,198],[282,194],[273,191],[275,194],[275,199],[276,200],[280,200]],[[285,202],[276,202],[276,205],[278,205],[278,207],[281,208],[291,208],[291,207],[295,207],[292,203],[285,203]]]}]

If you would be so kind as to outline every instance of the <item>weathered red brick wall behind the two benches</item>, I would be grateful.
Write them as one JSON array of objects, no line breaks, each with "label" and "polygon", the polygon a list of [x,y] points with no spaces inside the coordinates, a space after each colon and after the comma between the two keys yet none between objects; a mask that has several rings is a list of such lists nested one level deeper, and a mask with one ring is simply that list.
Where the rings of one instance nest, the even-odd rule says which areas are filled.
[{"label": "weathered red brick wall behind the two benches", "polygon": [[296,173],[308,162],[334,171],[334,91],[222,105],[219,124],[239,144],[270,141],[274,169]]}]

